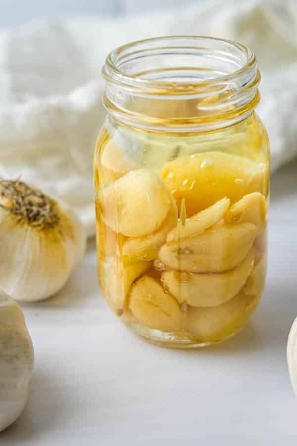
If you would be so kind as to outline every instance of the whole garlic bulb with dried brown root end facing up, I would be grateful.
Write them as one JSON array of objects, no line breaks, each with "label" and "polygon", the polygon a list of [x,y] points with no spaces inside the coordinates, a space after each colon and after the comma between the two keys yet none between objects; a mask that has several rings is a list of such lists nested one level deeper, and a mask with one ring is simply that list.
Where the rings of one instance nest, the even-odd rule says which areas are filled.
[{"label": "whole garlic bulb with dried brown root end facing up", "polygon": [[57,293],[85,252],[86,233],[64,204],[19,180],[0,180],[0,288],[19,301]]}]

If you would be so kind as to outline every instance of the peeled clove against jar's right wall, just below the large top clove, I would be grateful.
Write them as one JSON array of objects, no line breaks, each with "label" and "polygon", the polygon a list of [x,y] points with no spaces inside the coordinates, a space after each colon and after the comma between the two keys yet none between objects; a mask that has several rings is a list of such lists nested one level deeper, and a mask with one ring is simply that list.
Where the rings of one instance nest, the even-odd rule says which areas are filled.
[{"label": "peeled clove against jar's right wall, just below the large top clove", "polygon": [[258,232],[266,225],[266,200],[259,192],[245,195],[234,203],[224,216],[226,223],[254,223]]}]

